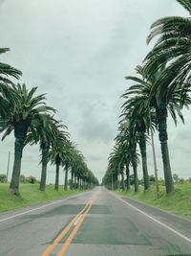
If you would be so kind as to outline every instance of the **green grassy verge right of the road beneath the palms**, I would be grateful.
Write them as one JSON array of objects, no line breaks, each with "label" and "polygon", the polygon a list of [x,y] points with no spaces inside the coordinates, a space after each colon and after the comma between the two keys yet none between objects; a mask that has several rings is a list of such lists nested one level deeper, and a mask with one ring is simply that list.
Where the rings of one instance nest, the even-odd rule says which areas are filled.
[{"label": "green grassy verge right of the road beneath the palms", "polygon": [[155,186],[145,193],[142,187],[139,188],[138,193],[135,193],[133,188],[128,192],[116,191],[116,193],[191,220],[191,184],[176,185],[175,192],[168,197],[165,195],[165,187],[160,186],[159,199],[156,197]]}]

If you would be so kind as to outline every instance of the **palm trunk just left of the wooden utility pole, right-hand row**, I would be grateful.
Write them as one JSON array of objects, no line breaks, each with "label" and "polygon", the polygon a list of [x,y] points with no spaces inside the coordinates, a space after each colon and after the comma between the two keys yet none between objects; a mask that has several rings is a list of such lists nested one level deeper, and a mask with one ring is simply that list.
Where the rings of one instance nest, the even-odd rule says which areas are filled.
[{"label": "palm trunk just left of the wooden utility pole, right-hand row", "polygon": [[146,139],[144,132],[139,133],[139,149],[142,158],[142,172],[144,180],[144,191],[148,190],[150,187],[149,184],[149,175],[147,169],[147,157],[146,157]]}]

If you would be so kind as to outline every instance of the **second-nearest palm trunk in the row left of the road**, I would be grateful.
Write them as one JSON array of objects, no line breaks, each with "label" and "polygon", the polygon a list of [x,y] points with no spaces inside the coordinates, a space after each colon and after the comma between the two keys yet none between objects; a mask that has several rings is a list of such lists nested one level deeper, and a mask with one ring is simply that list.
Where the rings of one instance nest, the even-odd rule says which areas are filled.
[{"label": "second-nearest palm trunk in the row left of the road", "polygon": [[40,191],[45,191],[46,179],[47,179],[47,163],[48,163],[48,154],[49,154],[49,146],[42,145],[42,172],[40,179]]}]

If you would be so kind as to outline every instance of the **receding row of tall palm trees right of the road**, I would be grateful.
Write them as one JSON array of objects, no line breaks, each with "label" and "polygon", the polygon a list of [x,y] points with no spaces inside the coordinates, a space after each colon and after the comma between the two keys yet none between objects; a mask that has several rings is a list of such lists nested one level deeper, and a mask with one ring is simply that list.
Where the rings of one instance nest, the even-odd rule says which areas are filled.
[{"label": "receding row of tall palm trees right of the road", "polygon": [[[190,0],[177,2],[191,13]],[[166,194],[169,195],[174,191],[174,184],[167,143],[167,117],[170,113],[176,125],[177,116],[184,122],[182,109],[191,104],[191,19],[179,16],[161,18],[152,24],[147,43],[156,36],[158,40],[153,49],[143,59],[142,66],[136,68],[138,76],[126,77],[134,84],[122,95],[125,102],[122,105],[116,145],[109,156],[102,182],[108,188],[116,189],[118,177],[121,176],[122,189],[125,187],[124,180],[126,189],[130,189],[131,165],[135,192],[138,192],[139,145],[144,190],[148,190],[146,144],[153,131],[158,130]]]}]

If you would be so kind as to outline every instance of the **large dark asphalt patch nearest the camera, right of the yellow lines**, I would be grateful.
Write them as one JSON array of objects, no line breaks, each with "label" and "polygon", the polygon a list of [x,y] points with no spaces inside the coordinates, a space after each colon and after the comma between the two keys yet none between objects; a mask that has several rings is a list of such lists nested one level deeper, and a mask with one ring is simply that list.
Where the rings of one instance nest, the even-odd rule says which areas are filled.
[{"label": "large dark asphalt patch nearest the camera, right of the yellow lines", "polygon": [[134,244],[152,245],[127,218],[87,217],[73,244]]}]

